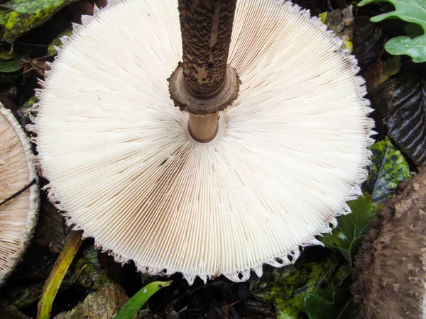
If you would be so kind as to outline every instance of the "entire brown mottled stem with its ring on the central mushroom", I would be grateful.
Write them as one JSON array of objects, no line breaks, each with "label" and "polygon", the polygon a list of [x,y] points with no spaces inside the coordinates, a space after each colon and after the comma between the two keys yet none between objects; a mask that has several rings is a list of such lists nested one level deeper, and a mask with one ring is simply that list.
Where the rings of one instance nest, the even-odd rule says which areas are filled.
[{"label": "entire brown mottled stem with its ring on the central mushroom", "polygon": [[189,130],[198,142],[217,133],[218,113],[231,105],[239,77],[227,65],[236,0],[179,0],[183,63],[168,79],[170,98],[190,113]]}]

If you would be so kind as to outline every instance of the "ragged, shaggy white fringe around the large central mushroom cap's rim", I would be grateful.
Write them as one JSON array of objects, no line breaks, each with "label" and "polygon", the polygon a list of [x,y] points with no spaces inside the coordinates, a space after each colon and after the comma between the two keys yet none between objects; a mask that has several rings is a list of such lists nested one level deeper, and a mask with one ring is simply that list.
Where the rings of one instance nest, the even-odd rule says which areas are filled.
[{"label": "ragged, shaggy white fringe around the large central mushroom cap's rim", "polygon": [[[125,1],[126,0],[109,0],[107,6],[105,6],[103,9],[95,8],[93,16],[84,16],[84,18],[82,18],[81,25],[77,23],[73,23],[72,35],[70,37],[65,36],[61,38],[63,46],[58,50],[58,55],[55,57],[55,59],[59,57],[62,54],[62,52],[65,52],[67,50],[67,47],[70,45],[70,43],[72,43],[72,40],[73,38],[75,38],[76,34],[84,32],[84,29],[87,28],[89,23],[92,23],[92,21],[97,20],[99,16],[99,11],[114,9],[114,6],[116,6],[116,4],[121,4],[122,2],[125,2]],[[359,73],[360,68],[358,66],[356,57],[354,57],[354,55],[350,55],[348,50],[342,50],[343,41],[340,38],[337,38],[337,36],[334,34],[332,30],[327,30],[327,26],[321,22],[320,18],[311,17],[309,10],[302,9],[297,4],[292,4],[290,1],[283,1],[283,0],[271,0],[271,1],[281,4],[283,6],[290,6],[293,10],[299,11],[300,16],[307,18],[307,20],[310,21],[312,26],[322,30],[324,33],[326,33],[329,39],[334,41],[337,52],[341,52],[341,54],[345,57],[345,59],[349,60],[349,63],[351,65],[351,72],[352,74],[356,76],[356,82],[358,84],[359,99],[361,100],[361,103],[364,106],[365,116],[368,116],[373,111],[373,108],[370,107],[370,101],[364,98],[364,96],[367,94],[365,80],[361,76],[357,75]],[[35,90],[35,96],[38,97],[38,99],[40,100],[43,99],[43,92],[44,92],[43,90],[45,88],[45,83],[49,81],[50,74],[54,72],[55,72],[55,63],[53,63],[52,69],[50,69],[50,71],[45,72],[45,81],[39,79],[39,84],[42,87],[42,89]],[[34,106],[31,108],[30,113],[33,113],[35,115],[38,111],[39,106],[40,106],[40,102],[35,103]],[[31,142],[37,143],[37,128],[35,125],[36,117],[34,115],[30,114],[31,122],[33,124],[28,124],[26,126],[26,129],[34,133],[33,137],[31,138]],[[374,142],[374,140],[371,138],[371,135],[376,134],[376,132],[373,131],[373,128],[374,128],[373,119],[366,117],[364,121],[364,128],[367,132],[366,140],[365,140],[364,162],[361,165],[359,172],[357,172],[356,174],[357,175],[356,185],[352,186],[348,194],[346,194],[344,203],[342,203],[341,208],[337,210],[337,213],[334,213],[333,218],[329,218],[329,220],[327,220],[321,228],[317,229],[315,233],[312,234],[312,236],[308,240],[303,242],[301,245],[297,245],[296,247],[293,247],[292,250],[289,250],[285,254],[276,256],[273,259],[267,260],[266,262],[261,262],[259,264],[256,264],[253,267],[242,269],[236,272],[222,273],[220,269],[217,269],[217,272],[215,272],[214,274],[182,273],[182,276],[184,276],[188,284],[190,285],[193,284],[197,276],[199,276],[200,279],[202,279],[202,281],[204,281],[204,284],[205,284],[207,282],[207,279],[212,279],[221,274],[223,274],[226,278],[230,279],[231,281],[235,281],[235,282],[247,281],[250,277],[251,271],[255,272],[258,276],[261,276],[263,272],[262,270],[263,264],[269,264],[273,267],[284,267],[288,264],[294,264],[294,262],[300,256],[300,247],[302,247],[303,249],[303,247],[307,247],[307,246],[322,245],[322,243],[319,240],[317,240],[316,237],[331,233],[333,228],[337,226],[337,217],[351,213],[350,208],[347,205],[346,201],[352,201],[362,195],[361,184],[367,178],[368,172],[366,170],[366,167],[371,163],[370,157],[372,153],[370,150],[368,150],[368,146],[372,145]],[[43,165],[40,163],[40,159],[38,157],[35,158],[35,163],[36,163],[36,167],[39,170],[40,176],[45,177],[43,174]],[[72,216],[67,214],[67,208],[60,203],[58,196],[56,196],[50,184],[44,186],[43,189],[48,191],[48,198],[53,203],[53,205],[56,208],[58,208],[58,210],[63,212],[63,216],[66,218],[66,223],[68,226],[70,226],[70,228],[72,228],[72,230],[82,230],[83,237],[93,237],[91,233],[87,233],[82,228],[80,228],[80,226],[75,223],[75,220],[73,220]],[[94,238],[94,242],[97,248],[101,249],[102,252],[107,252],[109,255],[114,257],[114,260],[116,262],[120,264],[125,264],[126,262],[133,260],[128,256],[111,251],[110,247],[107,247],[106,245],[101,245],[96,238]],[[138,263],[136,263],[136,267],[138,271],[142,272],[143,274],[150,274],[152,276],[154,275],[170,276],[171,274],[178,272],[178,270],[175,270],[175,269],[160,269],[153,265],[138,264]]]}]

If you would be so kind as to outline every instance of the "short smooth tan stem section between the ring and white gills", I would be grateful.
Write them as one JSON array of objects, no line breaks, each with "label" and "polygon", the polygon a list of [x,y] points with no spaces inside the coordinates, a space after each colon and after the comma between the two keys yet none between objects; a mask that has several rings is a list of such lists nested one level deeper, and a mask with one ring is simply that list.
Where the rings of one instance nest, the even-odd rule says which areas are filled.
[{"label": "short smooth tan stem section between the ring and white gills", "polygon": [[214,139],[217,134],[219,112],[207,116],[196,116],[190,113],[188,129],[194,140],[207,143]]}]

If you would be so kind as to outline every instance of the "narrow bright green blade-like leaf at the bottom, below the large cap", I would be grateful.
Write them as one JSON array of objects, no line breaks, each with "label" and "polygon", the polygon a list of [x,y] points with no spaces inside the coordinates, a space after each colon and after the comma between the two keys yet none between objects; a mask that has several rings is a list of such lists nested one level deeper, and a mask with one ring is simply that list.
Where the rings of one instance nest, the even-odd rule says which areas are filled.
[{"label": "narrow bright green blade-like leaf at the bottom, below the large cap", "polygon": [[154,293],[162,289],[163,287],[170,286],[172,281],[154,281],[151,284],[147,284],[135,296],[131,297],[129,301],[120,309],[119,313],[114,319],[133,319],[138,313],[138,310],[153,296]]}]

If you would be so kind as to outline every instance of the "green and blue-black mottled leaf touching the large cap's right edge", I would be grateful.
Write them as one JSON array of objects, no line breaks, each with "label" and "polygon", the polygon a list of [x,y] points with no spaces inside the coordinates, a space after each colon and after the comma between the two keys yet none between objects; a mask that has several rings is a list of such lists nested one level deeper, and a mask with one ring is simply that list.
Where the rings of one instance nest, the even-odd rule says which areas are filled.
[{"label": "green and blue-black mottled leaf touching the large cap's right edge", "polygon": [[381,204],[395,196],[400,181],[410,178],[410,167],[389,138],[371,145],[370,150],[373,155],[363,189],[371,194],[373,204]]}]

